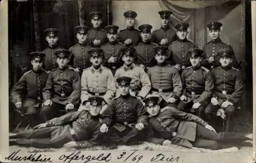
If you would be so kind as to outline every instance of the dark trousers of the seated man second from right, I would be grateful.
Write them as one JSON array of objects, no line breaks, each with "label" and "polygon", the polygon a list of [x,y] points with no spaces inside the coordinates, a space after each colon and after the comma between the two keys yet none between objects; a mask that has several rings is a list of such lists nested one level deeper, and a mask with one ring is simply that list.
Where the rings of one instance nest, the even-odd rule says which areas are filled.
[{"label": "dark trousers of the seated man second from right", "polygon": [[189,103],[184,103],[183,101],[180,101],[180,103],[178,105],[178,109],[182,110],[184,112],[187,112],[187,113],[195,114],[198,117],[200,117],[201,119],[205,120],[205,116],[204,116],[205,106],[201,105],[197,109],[191,109],[193,105],[194,105],[193,101],[190,101]]}]

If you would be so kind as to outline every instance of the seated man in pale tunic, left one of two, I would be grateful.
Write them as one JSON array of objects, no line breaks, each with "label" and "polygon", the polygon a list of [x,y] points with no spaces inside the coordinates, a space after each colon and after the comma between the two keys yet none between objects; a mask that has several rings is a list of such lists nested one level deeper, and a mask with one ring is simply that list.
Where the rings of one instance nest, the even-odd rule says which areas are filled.
[{"label": "seated man in pale tunic, left one of two", "polygon": [[[90,103],[91,96],[101,96],[103,109],[115,96],[114,77],[109,68],[101,65],[103,60],[102,50],[94,48],[88,51],[92,66],[84,69],[81,77],[81,109],[86,109]],[[104,106],[105,105],[105,106]],[[85,107],[84,107],[85,106]]]}]

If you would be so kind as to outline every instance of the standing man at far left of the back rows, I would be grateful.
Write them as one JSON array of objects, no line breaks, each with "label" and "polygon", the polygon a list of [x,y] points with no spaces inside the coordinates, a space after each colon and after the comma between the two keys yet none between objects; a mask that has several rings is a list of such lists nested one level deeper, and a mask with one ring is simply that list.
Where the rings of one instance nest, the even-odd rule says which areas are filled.
[{"label": "standing man at far left of the back rows", "polygon": [[58,46],[57,41],[59,39],[58,37],[58,30],[55,28],[49,28],[45,30],[46,34],[46,41],[48,42],[48,47],[42,51],[42,53],[45,53],[45,69],[46,71],[50,72],[52,69],[57,68],[58,64],[56,62],[56,57],[53,54],[54,50],[62,49],[60,46]]}]

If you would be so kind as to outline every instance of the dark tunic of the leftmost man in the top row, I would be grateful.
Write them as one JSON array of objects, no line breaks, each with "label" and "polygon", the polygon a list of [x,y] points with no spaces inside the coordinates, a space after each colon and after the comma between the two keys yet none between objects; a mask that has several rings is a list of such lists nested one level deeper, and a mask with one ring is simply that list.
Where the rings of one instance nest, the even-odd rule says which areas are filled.
[{"label": "dark tunic of the leftmost man in the top row", "polygon": [[[101,44],[100,45],[94,45],[93,41],[95,39],[100,39]],[[106,31],[101,28],[92,28],[88,31],[88,42],[93,48],[100,48],[101,45],[108,42],[108,38],[106,37]]]}]

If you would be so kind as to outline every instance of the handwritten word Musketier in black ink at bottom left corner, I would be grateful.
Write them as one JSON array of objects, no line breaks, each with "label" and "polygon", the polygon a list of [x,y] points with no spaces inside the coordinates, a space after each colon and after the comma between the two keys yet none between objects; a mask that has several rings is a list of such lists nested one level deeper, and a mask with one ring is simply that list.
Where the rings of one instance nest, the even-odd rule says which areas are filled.
[{"label": "handwritten word Musketier in black ink at bottom left corner", "polygon": [[7,160],[12,161],[33,161],[33,162],[52,162],[51,157],[46,157],[46,155],[42,156],[41,154],[37,155],[38,151],[34,154],[30,154],[29,156],[19,156],[20,150],[16,152],[12,152],[8,157],[5,157]]}]

